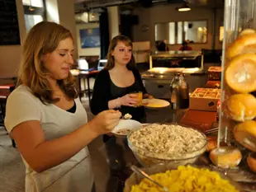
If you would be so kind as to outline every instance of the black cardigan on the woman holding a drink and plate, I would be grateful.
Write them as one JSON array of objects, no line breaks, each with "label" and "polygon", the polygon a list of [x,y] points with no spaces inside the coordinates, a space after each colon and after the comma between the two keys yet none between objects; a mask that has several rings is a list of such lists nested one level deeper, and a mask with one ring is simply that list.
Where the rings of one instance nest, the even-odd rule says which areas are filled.
[{"label": "black cardigan on the woman holding a drink and plate", "polygon": [[[131,71],[135,76],[135,81],[137,80],[140,83],[139,91],[143,91],[143,94],[147,93],[143,85],[142,79],[140,77],[139,71],[137,69],[132,69]],[[108,101],[111,101],[113,99],[116,99],[116,98],[111,96],[110,75],[107,69],[102,69],[102,71],[97,74],[97,78],[93,87],[92,100],[90,103],[92,114],[97,115],[103,110],[108,110]]]}]

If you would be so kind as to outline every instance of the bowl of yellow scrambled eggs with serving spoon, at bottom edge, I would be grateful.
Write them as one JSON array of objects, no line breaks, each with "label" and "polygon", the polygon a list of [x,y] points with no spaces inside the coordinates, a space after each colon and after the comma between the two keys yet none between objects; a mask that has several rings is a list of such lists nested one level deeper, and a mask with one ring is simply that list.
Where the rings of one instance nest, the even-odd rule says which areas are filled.
[{"label": "bowl of yellow scrambled eggs with serving spoon, at bottom edge", "polygon": [[[239,192],[239,185],[207,167],[157,165],[142,169],[170,192]],[[157,185],[133,173],[124,192],[163,192]]]}]

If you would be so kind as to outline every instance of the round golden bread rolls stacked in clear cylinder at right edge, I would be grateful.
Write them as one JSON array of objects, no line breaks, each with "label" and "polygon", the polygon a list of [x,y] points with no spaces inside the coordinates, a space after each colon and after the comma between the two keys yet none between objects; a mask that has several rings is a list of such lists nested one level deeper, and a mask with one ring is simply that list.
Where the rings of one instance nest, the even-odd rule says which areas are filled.
[{"label": "round golden bread rolls stacked in clear cylinder at right edge", "polygon": [[[231,119],[235,140],[248,148],[247,157],[251,171],[256,172],[256,31],[243,30],[225,50],[225,97],[222,110]],[[211,151],[211,161],[216,166],[238,166],[242,155],[238,148],[220,147]]]}]

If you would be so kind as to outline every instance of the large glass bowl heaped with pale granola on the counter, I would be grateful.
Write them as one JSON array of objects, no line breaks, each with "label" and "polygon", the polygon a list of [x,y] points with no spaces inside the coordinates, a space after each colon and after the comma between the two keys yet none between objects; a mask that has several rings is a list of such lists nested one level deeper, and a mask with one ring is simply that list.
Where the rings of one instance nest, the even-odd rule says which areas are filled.
[{"label": "large glass bowl heaped with pale granola on the counter", "polygon": [[142,166],[192,164],[206,152],[207,139],[179,124],[147,124],[127,135],[128,146]]}]

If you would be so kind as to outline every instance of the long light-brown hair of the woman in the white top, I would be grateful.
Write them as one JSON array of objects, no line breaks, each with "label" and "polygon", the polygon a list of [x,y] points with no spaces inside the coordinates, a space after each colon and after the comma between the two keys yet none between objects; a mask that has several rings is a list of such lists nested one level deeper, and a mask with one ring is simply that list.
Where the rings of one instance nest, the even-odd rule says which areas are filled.
[{"label": "long light-brown hair of the woman in the white top", "polygon": [[[42,57],[44,54],[54,52],[59,42],[67,38],[73,40],[71,32],[64,28],[64,26],[54,22],[42,21],[29,31],[23,44],[17,85],[24,84],[30,87],[32,93],[45,104],[55,103],[59,99],[53,98],[53,90],[46,79]],[[69,77],[66,79],[57,80],[57,83],[70,99],[78,96],[71,73],[69,73]]]}]

